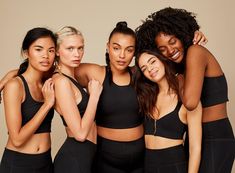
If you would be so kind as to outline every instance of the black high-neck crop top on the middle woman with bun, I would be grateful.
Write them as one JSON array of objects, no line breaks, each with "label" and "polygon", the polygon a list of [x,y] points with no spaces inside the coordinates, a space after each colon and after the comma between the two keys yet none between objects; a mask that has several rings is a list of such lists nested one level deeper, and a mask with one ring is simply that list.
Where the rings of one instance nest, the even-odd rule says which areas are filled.
[{"label": "black high-neck crop top on the middle woman with bun", "polygon": [[[98,126],[125,129],[142,123],[139,113],[137,95],[131,84],[118,86],[110,81],[110,73],[106,68],[103,91],[96,112]],[[131,72],[130,75],[132,76]]]}]

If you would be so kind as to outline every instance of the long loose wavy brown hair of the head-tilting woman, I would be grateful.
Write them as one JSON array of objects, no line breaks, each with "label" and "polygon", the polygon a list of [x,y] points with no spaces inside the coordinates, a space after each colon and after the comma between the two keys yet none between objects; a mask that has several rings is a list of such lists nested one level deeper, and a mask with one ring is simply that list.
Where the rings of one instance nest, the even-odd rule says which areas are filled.
[{"label": "long loose wavy brown hair of the head-tilting woman", "polygon": [[175,76],[175,63],[171,62],[156,50],[141,50],[135,58],[135,66],[137,72],[135,76],[134,86],[137,92],[137,98],[140,105],[140,111],[147,116],[152,117],[156,110],[156,101],[159,94],[159,87],[155,82],[146,78],[139,67],[139,58],[143,53],[156,56],[165,67],[165,77],[169,84],[169,92],[174,91],[179,98],[178,79]]}]

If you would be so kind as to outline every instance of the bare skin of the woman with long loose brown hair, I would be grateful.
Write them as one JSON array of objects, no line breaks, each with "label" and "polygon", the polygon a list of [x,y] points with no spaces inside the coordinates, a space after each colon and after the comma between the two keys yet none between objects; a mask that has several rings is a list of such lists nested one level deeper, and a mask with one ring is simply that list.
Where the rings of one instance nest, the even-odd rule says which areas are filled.
[{"label": "bare skin of the woman with long loose brown hair", "polygon": [[[138,65],[143,75],[159,87],[156,109],[152,115],[152,118],[157,121],[175,109],[178,103],[178,97],[175,91],[169,89],[169,84],[165,76],[165,66],[158,57],[152,54],[142,53],[138,59]],[[202,108],[200,104],[193,111],[188,111],[183,105],[180,108],[179,119],[182,123],[188,125],[190,153],[188,172],[190,173],[198,172],[200,164],[202,138],[201,117]],[[145,144],[146,148],[149,149],[163,149],[183,144],[183,139],[169,139],[160,136],[145,135]]]}]

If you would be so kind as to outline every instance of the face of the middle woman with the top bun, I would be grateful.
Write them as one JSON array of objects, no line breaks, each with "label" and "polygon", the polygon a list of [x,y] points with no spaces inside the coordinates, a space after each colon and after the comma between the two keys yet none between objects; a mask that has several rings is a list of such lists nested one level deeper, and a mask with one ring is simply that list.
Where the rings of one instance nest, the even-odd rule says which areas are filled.
[{"label": "face of the middle woman with the top bun", "polygon": [[135,52],[135,39],[131,35],[115,33],[107,44],[110,66],[113,70],[126,70]]}]

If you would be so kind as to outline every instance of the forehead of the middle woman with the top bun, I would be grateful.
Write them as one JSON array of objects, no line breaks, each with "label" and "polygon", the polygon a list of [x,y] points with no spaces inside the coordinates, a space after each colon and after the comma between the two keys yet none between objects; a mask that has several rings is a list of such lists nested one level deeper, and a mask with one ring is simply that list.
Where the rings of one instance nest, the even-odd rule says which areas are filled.
[{"label": "forehead of the middle woman with the top bun", "polygon": [[135,46],[135,38],[132,35],[115,33],[110,39],[110,43],[117,43],[119,45]]}]

